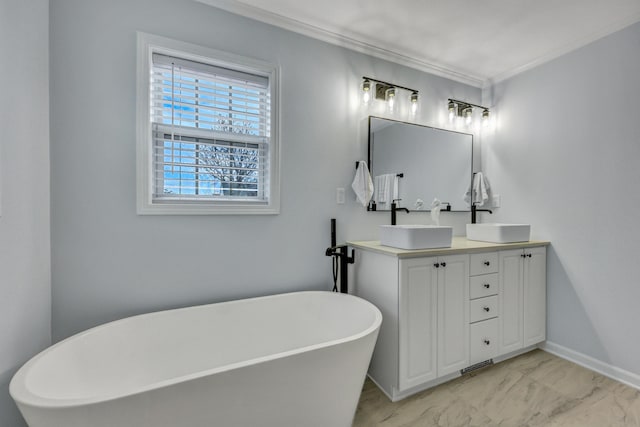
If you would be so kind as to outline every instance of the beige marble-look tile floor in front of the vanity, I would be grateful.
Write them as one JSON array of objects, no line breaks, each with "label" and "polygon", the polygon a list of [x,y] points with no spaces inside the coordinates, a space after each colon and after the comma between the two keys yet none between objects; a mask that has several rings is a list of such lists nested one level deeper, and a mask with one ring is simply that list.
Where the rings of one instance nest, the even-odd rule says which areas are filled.
[{"label": "beige marble-look tile floor in front of the vanity", "polygon": [[640,426],[640,391],[534,350],[395,403],[367,379],[353,426]]}]

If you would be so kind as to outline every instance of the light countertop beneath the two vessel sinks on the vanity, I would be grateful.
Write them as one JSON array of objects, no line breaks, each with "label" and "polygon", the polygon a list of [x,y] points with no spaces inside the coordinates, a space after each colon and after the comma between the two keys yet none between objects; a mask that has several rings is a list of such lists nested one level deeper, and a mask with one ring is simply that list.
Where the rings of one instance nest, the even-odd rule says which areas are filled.
[{"label": "light countertop beneath the two vessel sinks on the vanity", "polygon": [[347,242],[347,245],[366,251],[378,252],[384,255],[397,256],[398,258],[416,258],[434,255],[453,255],[460,253],[487,252],[492,250],[530,248],[533,246],[547,246],[550,242],[530,240],[516,243],[489,243],[476,240],[467,240],[466,237],[454,237],[450,248],[435,249],[398,249],[391,246],[383,246],[379,240]]}]

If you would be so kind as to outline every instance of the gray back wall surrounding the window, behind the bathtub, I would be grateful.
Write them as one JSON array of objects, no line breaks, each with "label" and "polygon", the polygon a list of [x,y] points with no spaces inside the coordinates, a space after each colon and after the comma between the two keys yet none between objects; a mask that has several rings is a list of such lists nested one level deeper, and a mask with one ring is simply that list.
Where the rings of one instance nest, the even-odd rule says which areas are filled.
[{"label": "gray back wall surrounding the window, behind the bathtub", "polygon": [[[330,288],[329,219],[340,241],[377,239],[377,224],[389,221],[364,212],[350,188],[355,161],[367,156],[361,77],[420,90],[417,121],[427,125],[439,124],[448,97],[481,97],[187,0],[53,0],[50,24],[55,340],[150,310]],[[280,215],[136,215],[136,31],[281,66]],[[337,187],[347,189],[345,205],[336,205]],[[468,217],[441,222],[461,234]],[[407,221],[430,218],[399,215]]]}]

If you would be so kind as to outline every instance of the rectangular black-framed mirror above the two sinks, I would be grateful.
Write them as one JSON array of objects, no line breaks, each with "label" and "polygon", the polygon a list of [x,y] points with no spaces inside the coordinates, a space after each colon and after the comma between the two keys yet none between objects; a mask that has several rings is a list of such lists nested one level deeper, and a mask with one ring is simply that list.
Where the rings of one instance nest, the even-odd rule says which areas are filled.
[{"label": "rectangular black-framed mirror above the two sinks", "polygon": [[[384,182],[384,175],[401,175],[396,181],[396,198],[402,199],[399,206],[428,211],[433,199],[438,198],[448,202],[452,211],[468,212],[464,195],[471,185],[472,162],[473,135],[369,117],[369,167],[374,187],[376,182]],[[389,210],[393,188],[387,197],[379,193],[379,188],[374,189],[368,209]],[[387,198],[386,202],[375,203]]]}]

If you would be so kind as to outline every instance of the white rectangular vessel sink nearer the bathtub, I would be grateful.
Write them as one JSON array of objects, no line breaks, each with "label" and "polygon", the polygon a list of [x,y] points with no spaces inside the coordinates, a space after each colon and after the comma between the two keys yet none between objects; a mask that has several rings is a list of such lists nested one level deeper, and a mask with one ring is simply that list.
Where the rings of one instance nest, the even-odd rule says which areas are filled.
[{"label": "white rectangular vessel sink nearer the bathtub", "polygon": [[437,225],[381,225],[380,244],[399,249],[450,248],[453,227]]}]

